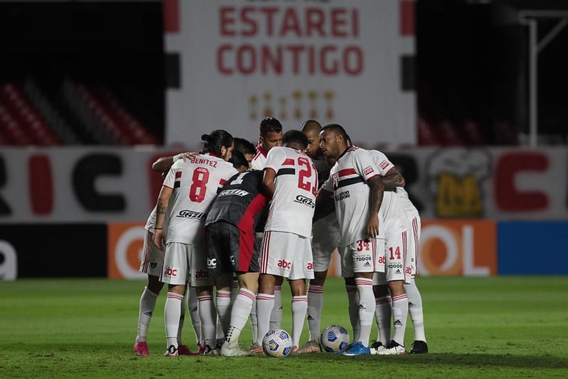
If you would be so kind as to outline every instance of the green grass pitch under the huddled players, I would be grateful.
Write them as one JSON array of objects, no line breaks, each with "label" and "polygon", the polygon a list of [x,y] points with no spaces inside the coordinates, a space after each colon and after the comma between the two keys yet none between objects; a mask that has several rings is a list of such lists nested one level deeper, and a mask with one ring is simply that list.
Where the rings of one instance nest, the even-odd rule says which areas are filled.
[{"label": "green grass pitch under the huddled players", "polygon": [[[162,357],[165,292],[158,298],[148,333],[152,356],[132,353],[143,282],[0,282],[0,377],[568,376],[568,278],[418,278],[417,284],[424,300],[430,349],[426,355],[173,359]],[[291,331],[288,292],[283,286],[283,328]],[[350,330],[346,303],[343,282],[330,278],[322,327],[337,323]],[[193,348],[189,317],[183,335]],[[250,339],[247,326],[241,341],[248,344]],[[307,326],[302,343],[306,340]]]}]

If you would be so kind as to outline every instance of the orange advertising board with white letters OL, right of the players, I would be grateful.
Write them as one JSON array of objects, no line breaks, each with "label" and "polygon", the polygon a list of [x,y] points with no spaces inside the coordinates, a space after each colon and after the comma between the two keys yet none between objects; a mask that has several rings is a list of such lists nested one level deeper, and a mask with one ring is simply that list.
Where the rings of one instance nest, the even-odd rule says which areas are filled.
[{"label": "orange advertising board with white letters OL, right of the players", "polygon": [[418,274],[495,275],[496,246],[496,223],[492,220],[424,220]]}]

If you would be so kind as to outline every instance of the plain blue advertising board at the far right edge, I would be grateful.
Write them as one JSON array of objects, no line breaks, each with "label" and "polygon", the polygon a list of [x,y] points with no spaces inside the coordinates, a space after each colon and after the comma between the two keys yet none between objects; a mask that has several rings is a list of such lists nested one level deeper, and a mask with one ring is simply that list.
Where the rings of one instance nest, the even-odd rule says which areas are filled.
[{"label": "plain blue advertising board at the far right edge", "polygon": [[499,274],[568,274],[568,221],[499,222]]}]

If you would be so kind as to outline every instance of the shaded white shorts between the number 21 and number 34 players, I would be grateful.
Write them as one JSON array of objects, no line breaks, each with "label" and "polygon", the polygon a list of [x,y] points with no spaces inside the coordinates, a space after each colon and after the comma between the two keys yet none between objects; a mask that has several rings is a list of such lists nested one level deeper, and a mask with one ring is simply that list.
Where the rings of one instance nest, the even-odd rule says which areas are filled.
[{"label": "shaded white shorts between the number 21 and number 34 players", "polygon": [[329,269],[331,255],[339,244],[339,223],[335,212],[319,219],[312,227],[312,255],[314,271],[323,272]]}]

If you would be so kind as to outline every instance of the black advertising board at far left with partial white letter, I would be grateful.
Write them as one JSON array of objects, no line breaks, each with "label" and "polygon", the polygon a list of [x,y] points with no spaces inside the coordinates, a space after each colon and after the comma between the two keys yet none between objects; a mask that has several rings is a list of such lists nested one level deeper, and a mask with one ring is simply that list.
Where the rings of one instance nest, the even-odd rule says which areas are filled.
[{"label": "black advertising board at far left with partial white letter", "polygon": [[0,280],[105,277],[106,224],[0,224]]}]

